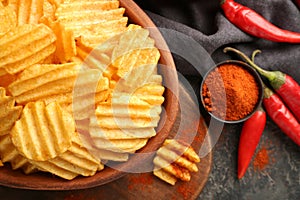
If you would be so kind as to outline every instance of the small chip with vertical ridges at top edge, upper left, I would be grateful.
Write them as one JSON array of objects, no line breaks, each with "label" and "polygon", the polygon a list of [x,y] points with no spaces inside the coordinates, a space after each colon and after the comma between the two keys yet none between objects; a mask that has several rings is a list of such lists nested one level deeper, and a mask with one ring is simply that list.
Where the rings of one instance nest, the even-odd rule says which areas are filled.
[{"label": "small chip with vertical ridges at top edge, upper left", "polygon": [[23,24],[37,24],[43,16],[44,1],[18,0],[17,1],[18,26]]}]

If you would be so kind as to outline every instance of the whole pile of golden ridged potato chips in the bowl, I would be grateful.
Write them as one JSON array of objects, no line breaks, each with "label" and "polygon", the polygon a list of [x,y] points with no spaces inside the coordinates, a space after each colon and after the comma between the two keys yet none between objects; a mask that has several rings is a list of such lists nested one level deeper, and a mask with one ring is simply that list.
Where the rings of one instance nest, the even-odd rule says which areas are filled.
[{"label": "whole pile of golden ridged potato chips in the bowl", "polygon": [[124,12],[118,0],[0,1],[0,166],[92,176],[156,135],[160,54]]}]

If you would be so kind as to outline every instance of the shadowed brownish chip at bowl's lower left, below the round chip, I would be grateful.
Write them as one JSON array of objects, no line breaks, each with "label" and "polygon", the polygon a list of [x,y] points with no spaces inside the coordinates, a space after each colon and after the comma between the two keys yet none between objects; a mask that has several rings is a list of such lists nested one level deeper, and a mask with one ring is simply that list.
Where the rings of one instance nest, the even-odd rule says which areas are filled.
[{"label": "shadowed brownish chip at bowl's lower left, below the round chip", "polygon": [[0,136],[0,158],[2,162],[10,162],[14,170],[22,169],[26,174],[37,171],[37,168],[17,151],[9,134]]}]

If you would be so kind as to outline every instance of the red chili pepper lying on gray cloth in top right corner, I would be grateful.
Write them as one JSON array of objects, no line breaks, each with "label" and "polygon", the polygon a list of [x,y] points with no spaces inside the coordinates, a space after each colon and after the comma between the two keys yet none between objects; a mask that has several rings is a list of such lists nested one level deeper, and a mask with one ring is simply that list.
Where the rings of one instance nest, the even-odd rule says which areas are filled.
[{"label": "red chili pepper lying on gray cloth in top right corner", "polygon": [[231,23],[250,35],[274,42],[300,43],[300,33],[283,30],[233,0],[221,0],[221,8]]}]

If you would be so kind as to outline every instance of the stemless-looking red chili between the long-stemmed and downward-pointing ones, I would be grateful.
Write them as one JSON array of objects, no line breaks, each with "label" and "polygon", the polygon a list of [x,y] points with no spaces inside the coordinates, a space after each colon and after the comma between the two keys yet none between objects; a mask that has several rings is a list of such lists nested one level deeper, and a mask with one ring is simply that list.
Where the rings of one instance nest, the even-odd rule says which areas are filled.
[{"label": "stemless-looking red chili between the long-stemmed and downward-pointing ones", "polygon": [[280,97],[265,86],[263,104],[277,126],[300,146],[300,124]]}]

